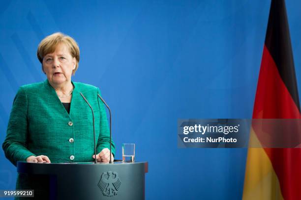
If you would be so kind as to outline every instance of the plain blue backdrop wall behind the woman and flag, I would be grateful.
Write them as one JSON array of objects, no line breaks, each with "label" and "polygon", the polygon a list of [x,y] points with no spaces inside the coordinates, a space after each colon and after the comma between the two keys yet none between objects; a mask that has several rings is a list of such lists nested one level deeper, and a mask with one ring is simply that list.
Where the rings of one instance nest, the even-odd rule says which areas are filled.
[{"label": "plain blue backdrop wall behind the woman and flag", "polygon": [[[46,76],[45,36],[79,44],[74,81],[98,86],[113,110],[117,158],[136,143],[149,161],[146,199],[241,199],[245,149],[178,149],[179,118],[251,118],[270,0],[0,2],[0,144],[21,85]],[[301,94],[301,2],[287,12]],[[121,106],[122,105],[122,106]],[[0,189],[16,168],[0,151]]]}]

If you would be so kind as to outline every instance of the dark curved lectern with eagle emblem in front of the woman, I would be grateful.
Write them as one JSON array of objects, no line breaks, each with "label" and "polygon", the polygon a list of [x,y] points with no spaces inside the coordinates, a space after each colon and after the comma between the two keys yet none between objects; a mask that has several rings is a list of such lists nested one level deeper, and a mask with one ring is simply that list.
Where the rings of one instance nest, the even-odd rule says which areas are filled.
[{"label": "dark curved lectern with eagle emblem in front of the woman", "polygon": [[148,162],[18,162],[17,172],[49,176],[50,200],[144,200]]}]

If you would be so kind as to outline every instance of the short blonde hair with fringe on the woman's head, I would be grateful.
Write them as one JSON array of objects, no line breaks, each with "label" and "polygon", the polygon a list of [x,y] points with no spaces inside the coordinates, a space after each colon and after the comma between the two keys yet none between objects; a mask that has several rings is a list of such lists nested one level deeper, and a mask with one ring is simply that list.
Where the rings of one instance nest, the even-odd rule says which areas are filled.
[{"label": "short blonde hair with fringe on the woman's head", "polygon": [[67,45],[69,47],[69,52],[70,52],[71,56],[75,57],[75,59],[76,59],[76,66],[75,66],[75,69],[72,71],[72,74],[74,75],[78,68],[78,63],[79,63],[79,59],[80,59],[79,47],[72,37],[65,35],[63,33],[60,33],[60,32],[56,32],[51,35],[48,35],[40,42],[40,44],[38,46],[36,54],[37,54],[37,57],[38,57],[40,63],[42,64],[42,70],[43,70],[44,56],[47,55],[48,53],[54,52],[56,50],[56,47],[60,43]]}]

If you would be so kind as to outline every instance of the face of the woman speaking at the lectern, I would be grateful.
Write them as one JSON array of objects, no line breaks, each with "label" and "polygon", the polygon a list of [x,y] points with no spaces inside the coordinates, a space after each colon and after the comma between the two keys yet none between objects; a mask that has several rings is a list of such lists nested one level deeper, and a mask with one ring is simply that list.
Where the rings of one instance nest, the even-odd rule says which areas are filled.
[{"label": "face of the woman speaking at the lectern", "polygon": [[43,58],[43,70],[50,83],[60,85],[71,81],[76,59],[72,57],[67,45],[60,43],[56,50]]}]

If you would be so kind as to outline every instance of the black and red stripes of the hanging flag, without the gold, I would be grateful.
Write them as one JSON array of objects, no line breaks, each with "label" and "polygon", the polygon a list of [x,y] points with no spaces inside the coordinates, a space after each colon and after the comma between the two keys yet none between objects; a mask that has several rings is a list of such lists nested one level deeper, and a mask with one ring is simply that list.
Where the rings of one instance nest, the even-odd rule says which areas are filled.
[{"label": "black and red stripes of the hanging flag, without the gold", "polygon": [[[253,118],[301,119],[284,0],[271,1]],[[283,198],[301,200],[301,149],[265,149],[265,152],[279,179]]]}]

